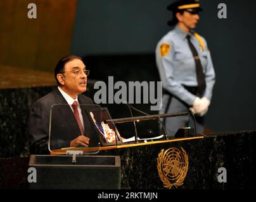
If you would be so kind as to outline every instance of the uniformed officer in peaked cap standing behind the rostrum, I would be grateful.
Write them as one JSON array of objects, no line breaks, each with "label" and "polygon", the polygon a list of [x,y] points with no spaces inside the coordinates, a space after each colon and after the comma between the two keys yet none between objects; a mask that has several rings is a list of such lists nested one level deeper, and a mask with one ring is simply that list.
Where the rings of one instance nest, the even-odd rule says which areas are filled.
[{"label": "uniformed officer in peaked cap standing behind the rostrum", "polygon": [[[157,68],[163,81],[163,106],[160,114],[191,110],[196,117],[196,131],[203,133],[203,116],[207,113],[215,83],[215,72],[206,40],[194,32],[198,0],[176,1],[167,9],[173,18],[174,29],[157,44]],[[168,136],[177,129],[194,126],[189,116],[164,119]],[[193,127],[194,128],[194,127]]]}]

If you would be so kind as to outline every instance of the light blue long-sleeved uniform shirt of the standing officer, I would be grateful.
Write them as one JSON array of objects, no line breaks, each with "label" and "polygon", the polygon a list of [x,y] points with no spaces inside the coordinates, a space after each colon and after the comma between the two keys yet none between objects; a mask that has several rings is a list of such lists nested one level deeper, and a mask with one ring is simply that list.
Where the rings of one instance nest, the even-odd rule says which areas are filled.
[{"label": "light blue long-sleeved uniform shirt of the standing officer", "polygon": [[[198,86],[195,59],[191,49],[189,49],[186,35],[188,34],[183,32],[176,25],[174,30],[171,30],[163,36],[158,42],[156,49],[157,68],[160,73],[160,79],[163,81],[163,88],[186,102],[186,104],[193,105],[196,95],[188,92],[188,90],[182,86]],[[189,33],[189,35],[191,35],[190,40],[198,52],[203,67],[203,73],[205,74],[206,88],[203,97],[207,97],[208,100],[211,100],[215,83],[215,72],[207,42],[200,36],[203,44],[205,44],[204,49],[200,50],[200,41],[196,39],[193,32]],[[160,47],[163,44],[169,44],[170,47],[166,55],[161,54],[160,51]]]}]

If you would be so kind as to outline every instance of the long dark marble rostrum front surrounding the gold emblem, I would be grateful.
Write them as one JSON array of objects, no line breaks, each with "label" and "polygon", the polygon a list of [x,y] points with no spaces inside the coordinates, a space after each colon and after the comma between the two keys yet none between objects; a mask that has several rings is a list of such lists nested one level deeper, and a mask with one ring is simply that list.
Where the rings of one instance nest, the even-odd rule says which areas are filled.
[{"label": "long dark marble rostrum front surrounding the gold emblem", "polygon": [[[58,150],[48,156],[0,158],[0,188],[167,189],[158,174],[159,154],[170,148],[177,148],[184,153],[183,148],[188,155],[188,172],[182,186],[172,186],[171,189],[255,189],[256,131],[206,135],[203,138],[175,138],[176,140],[100,147],[97,155],[101,156],[77,156],[76,164],[72,164],[72,156],[62,156],[66,150]],[[87,148],[89,149],[93,148]],[[105,163],[99,163],[100,159],[106,160],[103,161]],[[172,159],[174,158],[170,158]],[[119,163],[122,165],[121,179]],[[32,174],[28,172],[31,167],[37,170],[36,183],[28,182],[28,175]],[[219,182],[222,174],[220,168],[226,169],[227,182]],[[102,169],[103,172],[94,174],[93,169]],[[117,174],[112,169],[118,170]],[[84,177],[86,174],[87,178]]]}]

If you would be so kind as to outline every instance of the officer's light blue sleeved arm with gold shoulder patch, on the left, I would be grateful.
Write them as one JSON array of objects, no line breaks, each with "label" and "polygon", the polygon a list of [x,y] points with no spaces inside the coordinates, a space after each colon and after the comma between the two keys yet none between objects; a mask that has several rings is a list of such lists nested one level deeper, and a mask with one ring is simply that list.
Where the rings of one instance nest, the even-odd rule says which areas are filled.
[{"label": "officer's light blue sleeved arm with gold shoulder patch, on the left", "polygon": [[156,57],[160,78],[163,81],[163,88],[172,93],[188,105],[193,105],[196,96],[188,92],[181,83],[174,79],[173,61],[175,47],[172,42],[160,42],[157,45]]}]

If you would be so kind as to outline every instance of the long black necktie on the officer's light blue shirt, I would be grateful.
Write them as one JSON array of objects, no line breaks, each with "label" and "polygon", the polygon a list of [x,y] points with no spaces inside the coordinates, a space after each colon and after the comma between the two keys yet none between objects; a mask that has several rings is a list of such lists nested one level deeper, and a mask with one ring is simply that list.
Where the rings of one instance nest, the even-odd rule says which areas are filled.
[{"label": "long black necktie on the officer's light blue shirt", "polygon": [[198,52],[196,51],[194,45],[191,43],[190,41],[190,35],[187,35],[186,37],[188,39],[188,45],[189,48],[194,56],[195,59],[195,64],[196,64],[196,79],[197,79],[197,83],[198,83],[198,94],[200,97],[203,96],[203,93],[205,92],[205,74],[203,73],[203,68],[202,68],[202,64],[201,61],[198,57]]}]

